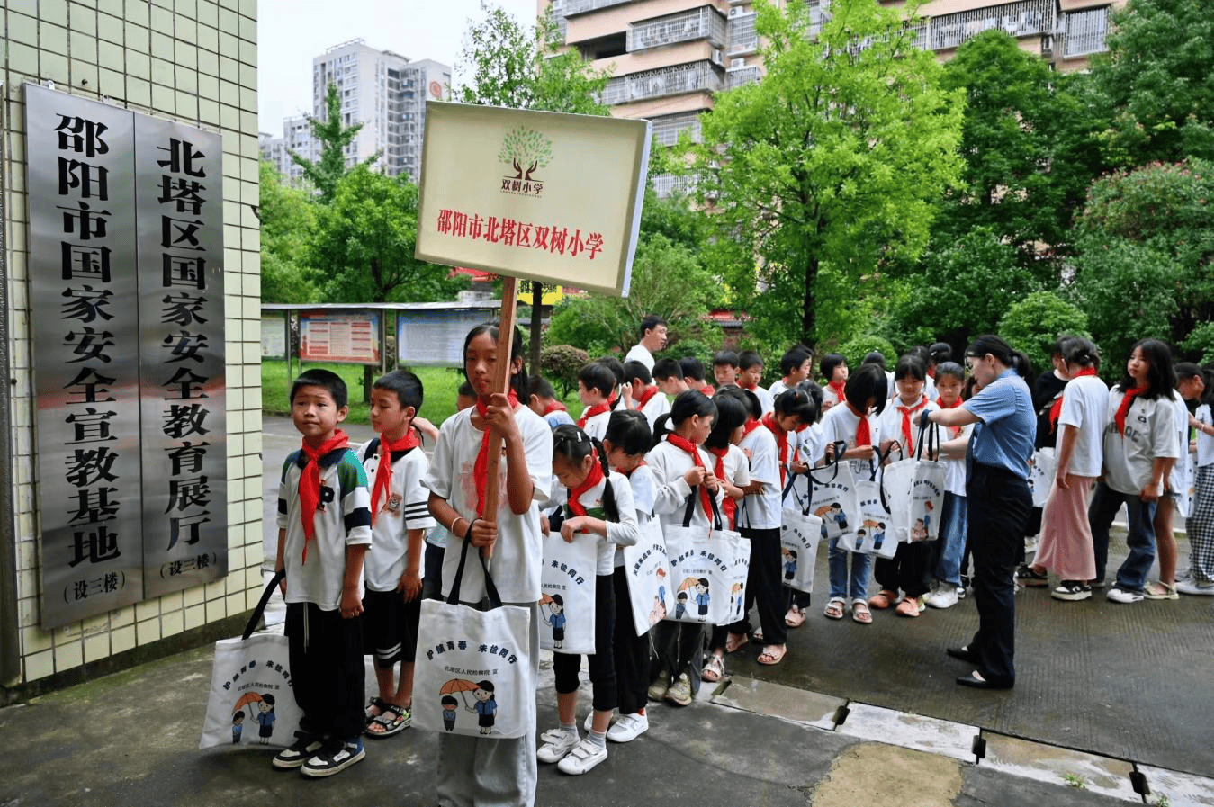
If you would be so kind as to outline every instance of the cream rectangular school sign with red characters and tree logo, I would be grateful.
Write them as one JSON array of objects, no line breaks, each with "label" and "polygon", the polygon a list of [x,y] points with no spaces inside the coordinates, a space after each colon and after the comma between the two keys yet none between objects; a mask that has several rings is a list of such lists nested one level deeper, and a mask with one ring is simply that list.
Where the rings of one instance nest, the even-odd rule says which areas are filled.
[{"label": "cream rectangular school sign with red characters and tree logo", "polygon": [[430,102],[416,256],[628,295],[651,125]]}]

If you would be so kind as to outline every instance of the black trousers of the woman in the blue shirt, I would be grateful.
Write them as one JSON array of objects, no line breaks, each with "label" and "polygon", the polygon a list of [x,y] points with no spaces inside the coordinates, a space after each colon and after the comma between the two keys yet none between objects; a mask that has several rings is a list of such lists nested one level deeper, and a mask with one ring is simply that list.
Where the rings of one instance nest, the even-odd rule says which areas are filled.
[{"label": "black trousers of the woman in the blue shirt", "polygon": [[1033,507],[1028,483],[1015,473],[974,464],[965,484],[969,504],[966,541],[974,556],[974,599],[978,630],[969,648],[987,681],[1010,687],[1016,681],[1016,582],[1025,547],[1025,523]]}]

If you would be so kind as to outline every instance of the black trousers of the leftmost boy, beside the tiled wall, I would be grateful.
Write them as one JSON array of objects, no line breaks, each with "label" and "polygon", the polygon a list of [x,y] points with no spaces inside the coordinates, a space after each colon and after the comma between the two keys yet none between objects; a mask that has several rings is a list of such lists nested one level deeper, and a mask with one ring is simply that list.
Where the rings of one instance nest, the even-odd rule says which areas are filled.
[{"label": "black trousers of the leftmost boy, beside the tiled wall", "polygon": [[342,619],[340,610],[316,603],[287,604],[291,689],[304,716],[300,731],[348,740],[367,728],[363,716],[362,616]]}]

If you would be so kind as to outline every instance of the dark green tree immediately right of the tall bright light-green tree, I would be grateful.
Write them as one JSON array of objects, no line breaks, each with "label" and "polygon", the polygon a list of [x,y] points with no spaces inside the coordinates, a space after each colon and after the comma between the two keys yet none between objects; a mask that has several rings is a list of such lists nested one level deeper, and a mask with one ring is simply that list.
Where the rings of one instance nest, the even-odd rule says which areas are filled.
[{"label": "dark green tree immediately right of the tall bright light-green tree", "polygon": [[1049,279],[1039,244],[1066,251],[1073,210],[1100,172],[1091,114],[1072,87],[1003,29],[986,30],[944,64],[943,86],[965,93],[961,182],[948,194],[932,239],[952,243],[988,227],[1026,267]]}]

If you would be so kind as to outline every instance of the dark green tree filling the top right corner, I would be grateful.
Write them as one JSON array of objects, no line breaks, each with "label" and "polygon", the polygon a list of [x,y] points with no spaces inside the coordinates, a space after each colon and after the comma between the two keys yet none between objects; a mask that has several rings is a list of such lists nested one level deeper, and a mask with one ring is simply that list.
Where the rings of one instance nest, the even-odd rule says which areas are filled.
[{"label": "dark green tree filling the top right corner", "polygon": [[1214,15],[1199,0],[1129,0],[1091,79],[1108,103],[1114,165],[1214,159]]}]

